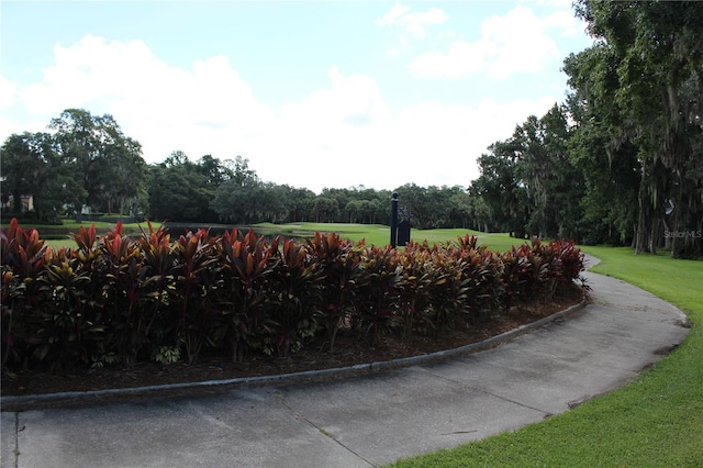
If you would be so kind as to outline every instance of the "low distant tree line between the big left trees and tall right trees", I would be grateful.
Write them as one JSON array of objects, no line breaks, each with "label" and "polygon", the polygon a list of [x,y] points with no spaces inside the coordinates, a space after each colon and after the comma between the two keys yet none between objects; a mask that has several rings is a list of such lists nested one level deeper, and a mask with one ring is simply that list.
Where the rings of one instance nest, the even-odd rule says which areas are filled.
[{"label": "low distant tree line between the big left trees and tall right trees", "polygon": [[[263,181],[236,156],[212,155],[191,161],[174,152],[150,166],[147,177],[149,214],[156,220],[248,225],[260,222],[338,222],[390,224],[389,190],[364,186],[324,188],[321,193]],[[469,227],[470,196],[460,187],[398,187],[403,213],[419,229]],[[471,226],[475,227],[475,226]]]}]

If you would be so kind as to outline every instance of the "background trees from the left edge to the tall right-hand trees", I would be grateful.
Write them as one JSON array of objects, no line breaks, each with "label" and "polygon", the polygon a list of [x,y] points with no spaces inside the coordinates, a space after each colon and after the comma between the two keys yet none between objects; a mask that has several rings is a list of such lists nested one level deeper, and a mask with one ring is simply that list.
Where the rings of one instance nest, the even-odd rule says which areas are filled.
[{"label": "background trees from the left edge to the tall right-hand trees", "polygon": [[[29,213],[41,222],[80,214],[116,213],[153,220],[247,225],[259,222],[390,223],[392,192],[362,186],[305,188],[261,180],[242,156],[191,160],[180,151],[147,164],[138,142],[123,134],[111,115],[67,109],[49,132],[13,134],[2,145],[5,213]],[[471,198],[461,187],[398,187],[403,213],[419,229],[469,225]]]}]

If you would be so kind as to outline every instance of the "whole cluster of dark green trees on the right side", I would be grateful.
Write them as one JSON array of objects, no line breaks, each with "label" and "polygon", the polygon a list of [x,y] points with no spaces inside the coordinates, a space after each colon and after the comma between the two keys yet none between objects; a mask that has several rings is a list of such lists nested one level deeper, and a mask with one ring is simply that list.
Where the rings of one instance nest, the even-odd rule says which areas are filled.
[{"label": "whole cluster of dark green trees on the right side", "polygon": [[516,236],[703,253],[703,3],[579,0],[570,92],[479,158],[469,191]]}]

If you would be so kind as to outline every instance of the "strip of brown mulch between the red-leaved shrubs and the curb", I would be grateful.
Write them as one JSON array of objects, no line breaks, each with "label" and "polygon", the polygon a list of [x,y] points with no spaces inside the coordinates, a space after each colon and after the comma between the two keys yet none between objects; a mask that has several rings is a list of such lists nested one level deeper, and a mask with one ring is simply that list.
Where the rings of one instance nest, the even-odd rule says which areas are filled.
[{"label": "strip of brown mulch between the red-leaved shrubs and the curb", "polygon": [[201,356],[194,365],[183,363],[138,363],[133,369],[88,369],[74,375],[49,375],[46,371],[25,371],[2,376],[3,395],[46,394],[68,391],[93,391],[104,389],[135,388],[167,383],[224,380],[243,377],[275,376],[305,370],[347,367],[357,364],[387,361],[419,356],[444,349],[479,343],[509,332],[521,325],[562,311],[583,300],[583,291],[573,287],[549,303],[512,308],[483,323],[464,331],[444,334],[439,339],[414,336],[402,342],[397,336],[387,336],[376,347],[341,334],[335,341],[334,352],[328,346],[309,347],[287,358],[250,357],[243,364],[222,361],[221,357]]}]

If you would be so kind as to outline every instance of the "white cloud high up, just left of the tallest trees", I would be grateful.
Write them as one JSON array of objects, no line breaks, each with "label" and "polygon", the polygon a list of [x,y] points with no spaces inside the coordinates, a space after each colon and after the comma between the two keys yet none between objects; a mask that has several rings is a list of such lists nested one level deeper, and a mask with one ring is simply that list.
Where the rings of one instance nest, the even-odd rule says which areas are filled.
[{"label": "white cloud high up, just left of the tallest trees", "polygon": [[517,5],[505,16],[484,20],[478,41],[455,41],[446,52],[416,57],[409,68],[419,76],[446,78],[484,71],[490,78],[504,79],[518,71],[537,73],[547,60],[560,57],[546,30],[572,31],[574,22],[565,21],[559,13],[539,19],[529,8]]}]

